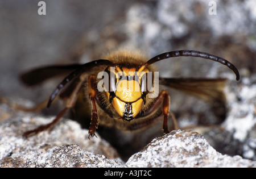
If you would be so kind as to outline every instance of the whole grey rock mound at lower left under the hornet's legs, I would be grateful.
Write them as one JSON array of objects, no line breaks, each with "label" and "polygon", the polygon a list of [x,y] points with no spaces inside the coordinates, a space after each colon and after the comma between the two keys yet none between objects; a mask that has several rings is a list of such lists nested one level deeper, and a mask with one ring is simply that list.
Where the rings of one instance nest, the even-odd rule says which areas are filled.
[{"label": "whole grey rock mound at lower left under the hornet's legs", "polygon": [[[4,116],[9,116],[0,125],[0,166],[2,167],[71,167],[80,166],[80,164],[86,166],[85,164],[92,160],[91,157],[96,156],[98,161],[108,160],[105,167],[112,166],[110,163],[118,163],[115,160],[109,160],[118,159],[119,155],[108,142],[100,136],[89,140],[88,130],[81,129],[80,125],[72,120],[63,119],[51,131],[43,131],[25,139],[22,137],[23,132],[51,122],[53,117],[47,118],[38,114],[14,111],[6,104],[0,105],[0,111]],[[63,156],[57,153],[63,153]],[[79,158],[76,159],[76,155],[85,156],[79,164],[75,161]],[[45,161],[42,159],[44,156]],[[60,162],[56,157],[59,159],[68,157],[68,161],[72,163]],[[88,161],[85,160],[86,157]],[[54,161],[55,159],[57,161]],[[88,166],[104,165],[94,163]]]}]

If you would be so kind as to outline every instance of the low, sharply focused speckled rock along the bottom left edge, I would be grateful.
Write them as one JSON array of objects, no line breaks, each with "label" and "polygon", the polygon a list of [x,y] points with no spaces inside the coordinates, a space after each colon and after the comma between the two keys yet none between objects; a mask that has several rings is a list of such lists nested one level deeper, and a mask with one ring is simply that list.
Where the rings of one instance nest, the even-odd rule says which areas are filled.
[{"label": "low, sharply focused speckled rock along the bottom left edge", "polygon": [[[40,153],[41,152],[41,153]],[[1,167],[121,167],[114,159],[104,155],[84,151],[79,145],[61,145],[47,150],[16,153],[6,157],[0,163]]]}]

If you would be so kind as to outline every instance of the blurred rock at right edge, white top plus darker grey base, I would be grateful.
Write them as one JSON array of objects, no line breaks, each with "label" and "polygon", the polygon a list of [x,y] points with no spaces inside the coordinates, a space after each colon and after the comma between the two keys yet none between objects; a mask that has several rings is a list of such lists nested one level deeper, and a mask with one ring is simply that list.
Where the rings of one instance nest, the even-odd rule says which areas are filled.
[{"label": "blurred rock at right edge, white top plus darker grey base", "polygon": [[239,83],[229,80],[226,88],[226,106],[229,111],[221,129],[200,132],[218,152],[240,155],[256,160],[256,76],[243,77]]}]

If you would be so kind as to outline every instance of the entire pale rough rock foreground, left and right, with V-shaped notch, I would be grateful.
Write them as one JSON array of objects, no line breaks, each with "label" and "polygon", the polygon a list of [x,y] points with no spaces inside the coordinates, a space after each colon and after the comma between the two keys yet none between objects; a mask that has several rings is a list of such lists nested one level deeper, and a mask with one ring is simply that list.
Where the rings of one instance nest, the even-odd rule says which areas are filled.
[{"label": "entire pale rough rock foreground, left and right, with V-shaped notch", "polygon": [[0,111],[9,116],[0,125],[0,167],[256,167],[256,161],[222,155],[202,135],[181,130],[155,138],[125,164],[108,142],[100,136],[89,140],[88,130],[72,120],[24,139],[24,131],[52,117],[13,111],[6,104]]}]

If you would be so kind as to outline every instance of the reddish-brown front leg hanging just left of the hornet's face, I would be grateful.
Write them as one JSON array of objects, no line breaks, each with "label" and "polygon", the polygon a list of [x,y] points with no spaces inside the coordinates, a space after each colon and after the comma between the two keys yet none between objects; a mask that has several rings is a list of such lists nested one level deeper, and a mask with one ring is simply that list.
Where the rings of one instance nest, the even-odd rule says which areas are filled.
[{"label": "reddish-brown front leg hanging just left of the hornet's face", "polygon": [[95,76],[93,74],[89,76],[88,83],[89,83],[89,99],[90,99],[90,102],[92,103],[92,119],[90,122],[90,127],[88,132],[88,138],[90,139],[90,137],[93,138],[94,136],[96,136],[95,131],[96,131],[96,128],[98,128],[98,123],[99,123],[98,110],[95,102],[95,99],[96,99],[96,90],[94,89]]}]

